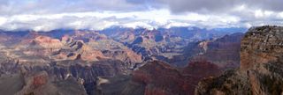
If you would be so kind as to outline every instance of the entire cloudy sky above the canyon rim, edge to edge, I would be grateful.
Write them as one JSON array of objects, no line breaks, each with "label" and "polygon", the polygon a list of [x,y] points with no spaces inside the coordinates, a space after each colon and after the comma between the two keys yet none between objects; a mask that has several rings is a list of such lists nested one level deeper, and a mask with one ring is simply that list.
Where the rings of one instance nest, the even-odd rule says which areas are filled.
[{"label": "entire cloudy sky above the canyon rim, edge to edge", "polygon": [[283,25],[283,0],[0,0],[0,29]]}]

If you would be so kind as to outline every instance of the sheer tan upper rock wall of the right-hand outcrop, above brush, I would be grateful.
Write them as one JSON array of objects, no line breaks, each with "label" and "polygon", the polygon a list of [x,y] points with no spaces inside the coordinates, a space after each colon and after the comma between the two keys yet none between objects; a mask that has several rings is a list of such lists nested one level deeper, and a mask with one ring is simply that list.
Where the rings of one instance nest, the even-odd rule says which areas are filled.
[{"label": "sheer tan upper rock wall of the right-hand outcrop, above brush", "polygon": [[283,55],[283,27],[263,26],[249,29],[241,40],[241,69],[256,63],[278,62]]}]

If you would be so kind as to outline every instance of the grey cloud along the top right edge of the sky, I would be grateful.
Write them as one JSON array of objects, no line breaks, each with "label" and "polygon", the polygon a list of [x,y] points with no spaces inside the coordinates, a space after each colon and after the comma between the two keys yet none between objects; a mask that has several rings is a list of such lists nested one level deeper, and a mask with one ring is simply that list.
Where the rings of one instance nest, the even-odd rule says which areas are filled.
[{"label": "grey cloud along the top right edge of the sky", "polygon": [[226,13],[242,4],[250,9],[283,11],[282,0],[157,0],[157,3],[168,6],[172,12]]}]

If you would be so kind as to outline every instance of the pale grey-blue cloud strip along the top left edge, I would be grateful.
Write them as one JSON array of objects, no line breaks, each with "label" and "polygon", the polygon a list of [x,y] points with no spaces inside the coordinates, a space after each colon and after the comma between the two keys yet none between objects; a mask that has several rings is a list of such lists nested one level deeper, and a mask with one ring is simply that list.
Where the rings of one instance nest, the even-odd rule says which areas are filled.
[{"label": "pale grey-blue cloud strip along the top left edge", "polygon": [[1,15],[47,14],[85,11],[142,11],[134,0],[0,0]]}]

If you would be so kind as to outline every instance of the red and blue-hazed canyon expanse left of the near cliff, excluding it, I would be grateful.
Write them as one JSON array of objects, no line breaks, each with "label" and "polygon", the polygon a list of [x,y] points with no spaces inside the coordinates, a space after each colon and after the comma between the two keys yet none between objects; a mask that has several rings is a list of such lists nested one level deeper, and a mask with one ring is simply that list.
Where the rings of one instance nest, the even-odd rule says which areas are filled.
[{"label": "red and blue-hazed canyon expanse left of the near cliff, excluding it", "polygon": [[204,77],[240,66],[244,36],[193,29],[0,32],[0,92],[191,95]]}]

